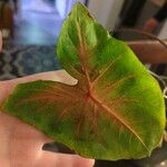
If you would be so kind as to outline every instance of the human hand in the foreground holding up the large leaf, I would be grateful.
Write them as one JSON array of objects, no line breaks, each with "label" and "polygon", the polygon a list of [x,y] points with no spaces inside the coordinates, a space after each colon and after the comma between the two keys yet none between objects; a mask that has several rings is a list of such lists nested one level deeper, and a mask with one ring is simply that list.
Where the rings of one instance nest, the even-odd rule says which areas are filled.
[{"label": "human hand in the foreground holding up the large leaf", "polygon": [[[63,70],[43,72],[0,82],[0,102],[18,84],[38,79],[75,84]],[[92,167],[95,160],[77,155],[53,154],[42,150],[52,140],[33,127],[7,114],[0,112],[0,166],[1,167]]]}]

